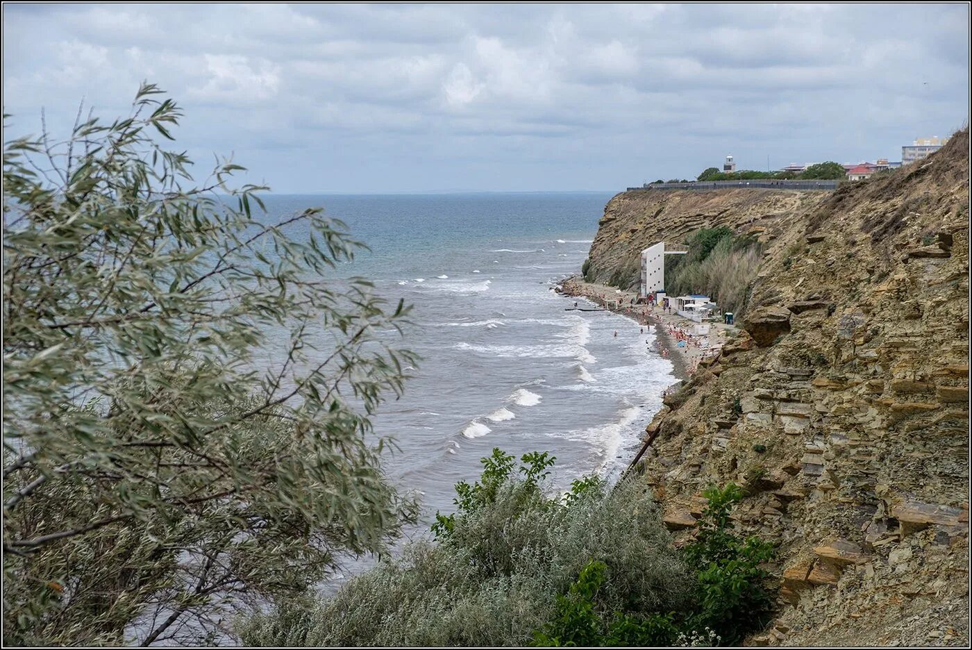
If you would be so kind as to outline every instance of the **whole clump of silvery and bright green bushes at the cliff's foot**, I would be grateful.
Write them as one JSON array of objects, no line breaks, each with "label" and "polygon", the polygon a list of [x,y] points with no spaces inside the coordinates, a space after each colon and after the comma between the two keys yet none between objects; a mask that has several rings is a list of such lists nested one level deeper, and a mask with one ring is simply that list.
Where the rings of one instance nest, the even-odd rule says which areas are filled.
[{"label": "whole clump of silvery and bright green bushes at the cliff's foot", "polygon": [[545,496],[553,459],[499,449],[456,486],[436,541],[410,546],[330,600],[278,602],[241,622],[250,645],[670,646],[738,643],[766,625],[773,547],[732,532],[735,485],[704,494],[682,551],[638,480],[594,477]]}]

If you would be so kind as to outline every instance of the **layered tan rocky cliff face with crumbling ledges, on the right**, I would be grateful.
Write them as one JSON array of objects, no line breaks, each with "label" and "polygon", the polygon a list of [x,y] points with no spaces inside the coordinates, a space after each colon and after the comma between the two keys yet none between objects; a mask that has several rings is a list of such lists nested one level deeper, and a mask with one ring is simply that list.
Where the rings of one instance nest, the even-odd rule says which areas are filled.
[{"label": "layered tan rocky cliff face with crumbling ledges, on the right", "polygon": [[967,152],[965,130],[833,193],[608,204],[602,281],[699,227],[767,242],[744,331],[666,398],[639,467],[680,537],[702,490],[746,487],[741,530],[780,543],[780,614],[753,643],[968,643]]}]

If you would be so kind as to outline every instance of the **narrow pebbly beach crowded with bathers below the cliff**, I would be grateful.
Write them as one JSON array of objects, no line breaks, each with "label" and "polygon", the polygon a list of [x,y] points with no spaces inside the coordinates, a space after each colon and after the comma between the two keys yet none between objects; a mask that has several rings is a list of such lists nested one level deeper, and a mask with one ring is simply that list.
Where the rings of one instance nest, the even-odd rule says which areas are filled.
[{"label": "narrow pebbly beach crowded with bathers below the cliff", "polygon": [[[688,381],[699,362],[711,356],[711,351],[720,350],[725,342],[725,327],[712,324],[708,335],[692,335],[692,342],[684,347],[678,347],[676,338],[670,328],[685,331],[687,326],[695,325],[677,314],[667,314],[660,307],[648,309],[644,304],[632,306],[632,298],[638,299],[638,294],[631,291],[619,291],[614,287],[588,283],[577,276],[571,276],[556,285],[556,291],[563,295],[584,298],[594,304],[602,306],[608,311],[625,316],[639,325],[654,325],[656,351],[664,359],[672,361],[672,374],[679,381]],[[607,307],[606,301],[618,301],[617,307]],[[705,342],[705,347],[703,347]],[[664,351],[664,352],[663,352]]]}]

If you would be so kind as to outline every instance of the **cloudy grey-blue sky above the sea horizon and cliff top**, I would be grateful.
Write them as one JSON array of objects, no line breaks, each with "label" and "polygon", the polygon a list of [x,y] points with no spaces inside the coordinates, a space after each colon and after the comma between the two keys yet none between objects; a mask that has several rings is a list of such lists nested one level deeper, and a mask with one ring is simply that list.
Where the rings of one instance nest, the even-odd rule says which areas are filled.
[{"label": "cloudy grey-blue sky above the sea horizon and cliff top", "polygon": [[[4,139],[126,116],[275,192],[617,190],[901,159],[968,123],[969,7],[3,6]],[[87,112],[87,108],[86,108]]]}]

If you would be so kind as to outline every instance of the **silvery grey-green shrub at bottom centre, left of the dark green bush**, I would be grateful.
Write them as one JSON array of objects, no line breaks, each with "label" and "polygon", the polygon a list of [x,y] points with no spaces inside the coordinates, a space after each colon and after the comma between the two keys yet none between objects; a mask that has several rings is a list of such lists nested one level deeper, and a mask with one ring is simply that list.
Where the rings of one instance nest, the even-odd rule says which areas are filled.
[{"label": "silvery grey-green shrub at bottom centre, left of the dark green bush", "polygon": [[[330,600],[281,601],[241,622],[251,645],[525,645],[557,615],[558,596],[591,562],[599,607],[660,611],[687,604],[690,576],[649,492],[574,481],[547,496],[546,454],[494,450],[479,481],[457,485],[457,510],[436,515],[437,541],[346,583]],[[598,582],[597,576],[603,580]],[[578,589],[580,589],[578,587]],[[583,607],[576,615],[582,616]],[[299,610],[299,613],[296,613]]]}]

